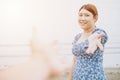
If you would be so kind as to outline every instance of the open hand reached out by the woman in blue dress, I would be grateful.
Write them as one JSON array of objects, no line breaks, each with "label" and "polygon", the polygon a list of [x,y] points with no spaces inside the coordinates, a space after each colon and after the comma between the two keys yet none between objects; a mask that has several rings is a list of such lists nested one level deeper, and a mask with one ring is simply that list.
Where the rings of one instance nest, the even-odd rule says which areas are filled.
[{"label": "open hand reached out by the woman in blue dress", "polygon": [[88,37],[89,46],[86,50],[87,54],[92,54],[95,52],[97,48],[100,48],[100,50],[103,50],[103,45],[101,44],[101,38],[104,36],[104,33],[94,33],[91,36]]}]

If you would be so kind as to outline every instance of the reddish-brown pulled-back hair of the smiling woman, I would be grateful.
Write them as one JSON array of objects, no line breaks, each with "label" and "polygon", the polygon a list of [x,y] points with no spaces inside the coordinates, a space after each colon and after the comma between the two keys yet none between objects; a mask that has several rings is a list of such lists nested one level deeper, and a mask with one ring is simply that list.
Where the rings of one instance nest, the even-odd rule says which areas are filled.
[{"label": "reddish-brown pulled-back hair of the smiling woman", "polygon": [[95,5],[93,4],[84,4],[80,9],[79,12],[81,11],[81,9],[86,9],[89,12],[91,12],[93,14],[94,17],[98,16],[98,11]]}]

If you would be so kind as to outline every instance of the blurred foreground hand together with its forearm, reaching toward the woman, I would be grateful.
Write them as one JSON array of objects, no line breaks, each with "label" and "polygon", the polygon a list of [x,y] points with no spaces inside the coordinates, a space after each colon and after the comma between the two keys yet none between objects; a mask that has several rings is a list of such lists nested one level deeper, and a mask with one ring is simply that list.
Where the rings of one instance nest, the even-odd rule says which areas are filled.
[{"label": "blurred foreground hand together with its forearm, reaching toward the woman", "polygon": [[[30,47],[32,54],[30,60],[8,67],[0,71],[0,80],[48,80],[56,77],[66,69],[57,55],[58,41],[46,40],[46,32],[40,34],[37,28],[33,28]],[[49,34],[51,36],[52,34]]]}]

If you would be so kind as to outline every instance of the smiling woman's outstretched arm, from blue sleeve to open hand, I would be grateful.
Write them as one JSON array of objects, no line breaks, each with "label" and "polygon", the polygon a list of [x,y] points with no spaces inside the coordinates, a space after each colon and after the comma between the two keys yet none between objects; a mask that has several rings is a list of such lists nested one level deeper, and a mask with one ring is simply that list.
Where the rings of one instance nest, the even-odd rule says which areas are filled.
[{"label": "smiling woman's outstretched arm, from blue sleeve to open hand", "polygon": [[97,48],[99,48],[101,51],[104,48],[104,44],[108,40],[107,33],[102,30],[98,29],[96,30],[89,38],[88,38],[88,49],[86,50],[86,53],[94,53]]}]

